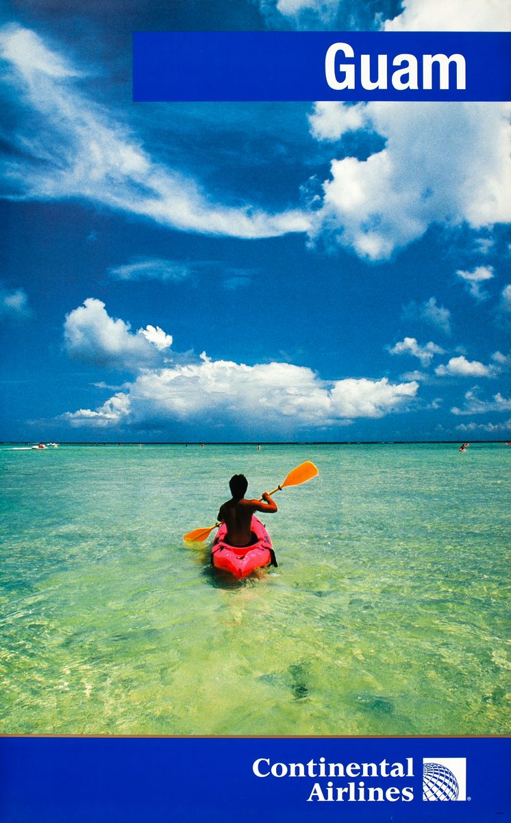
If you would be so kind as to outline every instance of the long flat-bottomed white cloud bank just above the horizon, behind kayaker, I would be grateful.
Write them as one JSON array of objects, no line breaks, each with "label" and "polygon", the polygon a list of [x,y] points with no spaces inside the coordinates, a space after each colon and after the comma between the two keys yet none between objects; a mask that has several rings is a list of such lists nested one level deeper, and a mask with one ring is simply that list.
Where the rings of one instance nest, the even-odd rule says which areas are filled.
[{"label": "long flat-bottomed white cloud bank just above the horizon, behind kayaker", "polygon": [[403,411],[417,388],[415,382],[394,385],[386,378],[325,381],[289,363],[248,366],[203,353],[196,364],[146,371],[129,395],[116,394],[95,412],[81,409],[66,419],[71,425],[101,426],[207,420],[288,432]]}]

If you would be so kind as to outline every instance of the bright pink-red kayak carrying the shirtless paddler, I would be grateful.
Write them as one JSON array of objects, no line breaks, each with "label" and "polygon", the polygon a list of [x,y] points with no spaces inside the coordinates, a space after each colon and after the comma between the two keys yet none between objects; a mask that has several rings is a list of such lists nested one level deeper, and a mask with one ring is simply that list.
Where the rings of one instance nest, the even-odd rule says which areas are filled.
[{"label": "bright pink-red kayak carrying the shirtless paddler", "polygon": [[255,514],[252,515],[251,528],[254,532],[254,542],[251,545],[229,546],[225,542],[227,526],[222,523],[217,536],[214,538],[213,546],[211,546],[211,565],[216,569],[230,571],[240,579],[246,577],[251,571],[262,568],[262,566],[277,566],[269,533],[260,520],[255,517]]}]

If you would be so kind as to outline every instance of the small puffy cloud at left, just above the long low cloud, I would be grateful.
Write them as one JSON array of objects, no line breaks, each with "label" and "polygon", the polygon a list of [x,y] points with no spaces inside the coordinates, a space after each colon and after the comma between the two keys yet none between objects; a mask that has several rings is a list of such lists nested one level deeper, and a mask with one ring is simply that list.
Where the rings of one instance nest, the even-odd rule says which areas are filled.
[{"label": "small puffy cloud at left, just above the long low cloud", "polygon": [[172,337],[159,326],[130,331],[130,323],[109,317],[104,303],[90,297],[67,314],[64,346],[74,360],[111,369],[138,369],[154,365]]}]

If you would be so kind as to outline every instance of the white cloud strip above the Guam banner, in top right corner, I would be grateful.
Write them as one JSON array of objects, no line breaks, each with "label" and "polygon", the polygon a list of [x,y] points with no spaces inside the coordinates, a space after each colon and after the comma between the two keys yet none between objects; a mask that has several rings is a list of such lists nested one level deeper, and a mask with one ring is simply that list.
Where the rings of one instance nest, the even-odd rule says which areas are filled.
[{"label": "white cloud strip above the Guam banner, in top right corner", "polygon": [[403,12],[384,31],[509,31],[508,0],[402,0]]}]

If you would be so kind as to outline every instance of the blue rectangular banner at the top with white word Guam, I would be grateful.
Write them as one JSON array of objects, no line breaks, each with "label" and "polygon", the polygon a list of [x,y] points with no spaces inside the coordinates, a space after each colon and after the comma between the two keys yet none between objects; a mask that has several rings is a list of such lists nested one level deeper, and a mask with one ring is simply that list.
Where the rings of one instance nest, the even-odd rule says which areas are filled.
[{"label": "blue rectangular banner at the top with white word Guam", "polygon": [[511,34],[136,32],[133,100],[511,100]]}]

